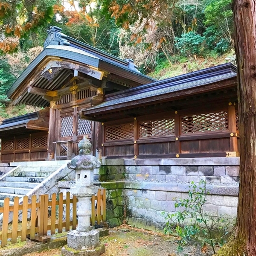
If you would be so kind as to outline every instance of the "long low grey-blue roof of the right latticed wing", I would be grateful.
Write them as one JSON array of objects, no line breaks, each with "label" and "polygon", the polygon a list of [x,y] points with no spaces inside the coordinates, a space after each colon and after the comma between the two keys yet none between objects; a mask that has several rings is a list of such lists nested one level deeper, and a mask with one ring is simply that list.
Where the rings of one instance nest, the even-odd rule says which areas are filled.
[{"label": "long low grey-blue roof of the right latticed wing", "polygon": [[136,104],[137,100],[165,95],[167,93],[182,91],[202,85],[213,84],[236,77],[236,67],[231,64],[221,64],[204,70],[164,79],[151,84],[140,85],[118,93],[105,96],[101,104],[84,110],[84,114],[96,113],[106,108],[115,109],[115,105],[122,107],[122,103],[131,102]]}]

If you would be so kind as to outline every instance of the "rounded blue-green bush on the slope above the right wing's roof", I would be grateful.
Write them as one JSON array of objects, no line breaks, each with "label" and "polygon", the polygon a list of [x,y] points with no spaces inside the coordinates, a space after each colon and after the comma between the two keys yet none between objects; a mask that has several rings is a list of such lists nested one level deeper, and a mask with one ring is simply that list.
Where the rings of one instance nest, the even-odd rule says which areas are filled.
[{"label": "rounded blue-green bush on the slope above the right wing's roof", "polygon": [[198,54],[201,50],[201,44],[204,42],[204,36],[194,31],[184,33],[180,38],[176,38],[175,46],[183,55]]}]

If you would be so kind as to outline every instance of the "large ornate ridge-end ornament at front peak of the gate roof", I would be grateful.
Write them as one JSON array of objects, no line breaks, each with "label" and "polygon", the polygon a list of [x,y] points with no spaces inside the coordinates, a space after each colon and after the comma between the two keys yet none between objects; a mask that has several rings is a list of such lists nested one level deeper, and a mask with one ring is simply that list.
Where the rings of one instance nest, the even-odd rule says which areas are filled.
[{"label": "large ornate ridge-end ornament at front peak of the gate roof", "polygon": [[50,29],[47,30],[48,37],[44,42],[44,48],[46,48],[49,44],[55,45],[70,45],[70,42],[67,41],[67,35],[61,33],[62,29],[57,26],[51,26]]}]

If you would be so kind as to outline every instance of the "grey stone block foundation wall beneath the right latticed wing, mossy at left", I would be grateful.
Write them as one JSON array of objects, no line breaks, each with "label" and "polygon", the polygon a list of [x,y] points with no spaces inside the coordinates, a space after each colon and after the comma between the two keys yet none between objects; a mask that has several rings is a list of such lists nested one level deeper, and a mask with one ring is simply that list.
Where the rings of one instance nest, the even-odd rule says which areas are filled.
[{"label": "grey stone block foundation wall beneath the right latticed wing, mossy at left", "polygon": [[165,223],[162,212],[175,212],[176,198],[186,198],[189,183],[201,179],[207,182],[209,190],[204,209],[213,215],[235,216],[238,157],[107,159],[99,169],[100,183],[108,191],[107,219],[111,226],[126,218],[132,226],[162,228]]}]

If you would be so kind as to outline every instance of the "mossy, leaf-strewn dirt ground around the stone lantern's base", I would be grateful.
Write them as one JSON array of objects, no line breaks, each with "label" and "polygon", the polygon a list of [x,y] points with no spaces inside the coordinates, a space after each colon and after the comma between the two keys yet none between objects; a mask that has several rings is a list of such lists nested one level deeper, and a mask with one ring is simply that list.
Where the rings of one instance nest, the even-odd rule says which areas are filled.
[{"label": "mossy, leaf-strewn dirt ground around the stone lantern's base", "polygon": [[[101,238],[105,244],[106,252],[102,256],[199,256],[193,246],[187,246],[182,253],[177,253],[177,238],[165,236],[146,230],[119,227],[111,229],[109,236]],[[61,248],[29,253],[26,256],[60,256]]]}]

